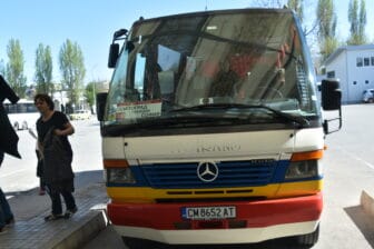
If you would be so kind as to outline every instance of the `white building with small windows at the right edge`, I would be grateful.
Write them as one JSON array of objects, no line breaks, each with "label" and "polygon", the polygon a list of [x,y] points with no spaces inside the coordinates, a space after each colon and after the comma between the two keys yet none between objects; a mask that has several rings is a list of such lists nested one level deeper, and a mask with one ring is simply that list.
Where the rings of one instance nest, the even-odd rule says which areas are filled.
[{"label": "white building with small windows at the right edge", "polygon": [[362,102],[363,91],[374,88],[374,44],[345,46],[324,63],[327,78],[341,80],[342,102]]}]

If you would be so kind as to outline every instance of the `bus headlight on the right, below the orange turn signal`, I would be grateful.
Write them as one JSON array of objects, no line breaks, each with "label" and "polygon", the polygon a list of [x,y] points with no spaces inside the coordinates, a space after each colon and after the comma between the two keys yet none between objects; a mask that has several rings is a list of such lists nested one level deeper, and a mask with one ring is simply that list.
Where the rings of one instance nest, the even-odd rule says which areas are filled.
[{"label": "bus headlight on the right, below the orange turn signal", "polygon": [[292,161],[286,171],[286,180],[316,178],[321,175],[317,160]]}]

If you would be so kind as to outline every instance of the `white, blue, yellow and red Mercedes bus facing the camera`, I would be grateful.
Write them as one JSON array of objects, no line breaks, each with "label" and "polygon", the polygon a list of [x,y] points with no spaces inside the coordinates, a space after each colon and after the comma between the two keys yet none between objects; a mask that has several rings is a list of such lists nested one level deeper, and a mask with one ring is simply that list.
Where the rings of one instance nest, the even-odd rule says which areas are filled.
[{"label": "white, blue, yellow and red Mercedes bus facing the camera", "polygon": [[107,211],[128,248],[317,242],[342,94],[323,80],[319,102],[294,11],[140,18],[114,33],[108,66],[97,96]]}]

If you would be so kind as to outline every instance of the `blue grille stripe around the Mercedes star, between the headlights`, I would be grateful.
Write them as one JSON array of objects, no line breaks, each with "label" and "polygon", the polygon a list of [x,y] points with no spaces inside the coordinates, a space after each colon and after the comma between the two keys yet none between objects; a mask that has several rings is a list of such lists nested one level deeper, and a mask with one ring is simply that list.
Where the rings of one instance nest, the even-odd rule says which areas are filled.
[{"label": "blue grille stripe around the Mercedes star, between the headlights", "polygon": [[249,160],[216,162],[218,177],[210,182],[197,176],[198,162],[152,163],[131,167],[137,180],[135,185],[111,183],[108,187],[151,187],[155,189],[199,189],[259,187],[270,183],[319,180],[322,176],[297,180],[285,180],[289,160]]}]

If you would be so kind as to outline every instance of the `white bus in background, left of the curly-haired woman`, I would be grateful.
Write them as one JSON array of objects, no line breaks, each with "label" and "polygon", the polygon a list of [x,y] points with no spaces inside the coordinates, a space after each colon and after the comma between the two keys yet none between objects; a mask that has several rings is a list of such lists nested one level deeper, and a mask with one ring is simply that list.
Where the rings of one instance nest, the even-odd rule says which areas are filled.
[{"label": "white bus in background, left of the curly-haired woman", "polygon": [[3,104],[14,130],[27,130],[35,127],[40,117],[32,100],[20,99],[14,104],[6,100]]}]

